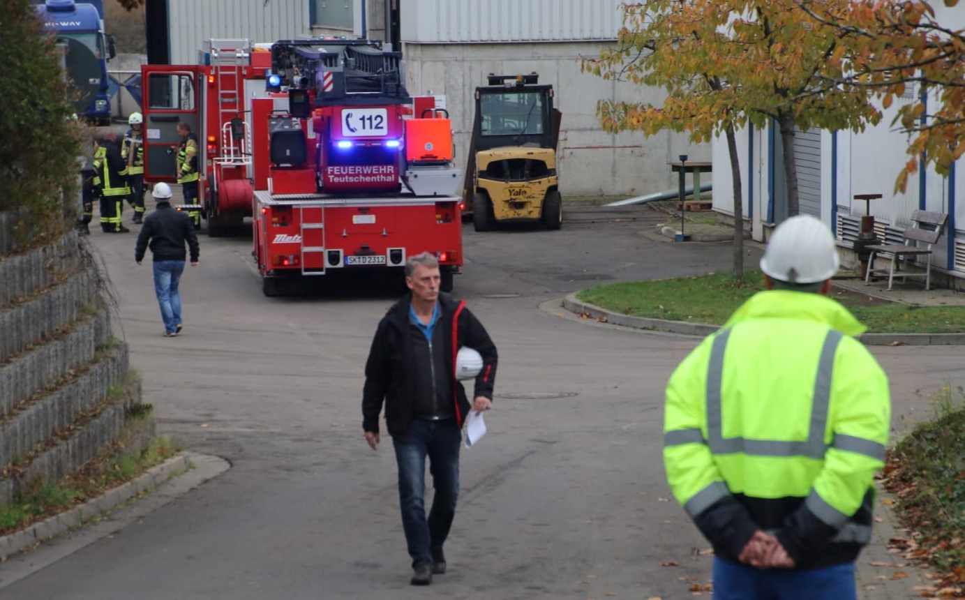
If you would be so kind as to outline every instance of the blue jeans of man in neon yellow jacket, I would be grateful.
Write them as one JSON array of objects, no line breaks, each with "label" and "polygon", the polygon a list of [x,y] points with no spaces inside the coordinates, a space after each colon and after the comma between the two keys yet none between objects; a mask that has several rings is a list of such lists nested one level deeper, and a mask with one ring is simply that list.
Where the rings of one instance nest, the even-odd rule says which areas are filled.
[{"label": "blue jeans of man in neon yellow jacket", "polygon": [[714,600],[856,600],[854,564],[767,569],[714,559]]}]

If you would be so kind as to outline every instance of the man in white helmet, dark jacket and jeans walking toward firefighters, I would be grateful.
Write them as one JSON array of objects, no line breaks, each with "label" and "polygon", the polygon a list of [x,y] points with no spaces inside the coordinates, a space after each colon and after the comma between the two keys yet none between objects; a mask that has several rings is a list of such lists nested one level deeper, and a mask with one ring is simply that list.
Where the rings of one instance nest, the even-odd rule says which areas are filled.
[{"label": "man in white helmet, dark jacket and jeans walking toward firefighters", "polygon": [[184,272],[184,242],[191,251],[191,266],[198,265],[198,235],[190,217],[171,206],[171,186],[158,183],[151,194],[157,209],[144,219],[144,227],[137,235],[134,259],[138,264],[151,243],[154,255],[154,293],[164,320],[164,337],[174,338],[180,333],[180,293],[178,284]]}]

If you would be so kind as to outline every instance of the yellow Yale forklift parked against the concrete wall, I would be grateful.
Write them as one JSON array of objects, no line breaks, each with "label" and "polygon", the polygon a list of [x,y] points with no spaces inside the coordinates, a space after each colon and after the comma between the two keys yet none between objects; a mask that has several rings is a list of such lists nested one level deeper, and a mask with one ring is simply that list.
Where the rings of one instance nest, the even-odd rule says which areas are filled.
[{"label": "yellow Yale forklift parked against the concrete wall", "polygon": [[553,86],[539,85],[536,72],[490,73],[488,85],[476,88],[463,202],[477,232],[502,223],[560,229],[556,147],[561,119],[553,108]]}]

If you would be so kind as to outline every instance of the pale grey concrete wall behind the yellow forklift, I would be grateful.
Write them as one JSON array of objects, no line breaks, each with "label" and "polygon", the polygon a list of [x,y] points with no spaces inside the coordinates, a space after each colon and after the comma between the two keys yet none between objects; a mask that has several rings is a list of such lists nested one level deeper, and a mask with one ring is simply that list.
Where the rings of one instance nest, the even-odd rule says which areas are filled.
[{"label": "pale grey concrete wall behind the yellow forklift", "polygon": [[[403,29],[404,31],[404,29]],[[404,34],[403,34],[404,35]],[[574,195],[643,195],[676,189],[669,163],[687,154],[710,159],[710,147],[693,145],[685,134],[664,131],[609,134],[596,116],[601,98],[662,104],[662,90],[604,81],[580,72],[579,58],[595,56],[604,42],[404,43],[406,87],[411,95],[445,95],[453,122],[456,163],[466,164],[475,111],[474,93],[486,75],[537,71],[539,83],[553,85],[563,113],[558,147],[560,191]],[[704,179],[706,181],[706,179]]]}]

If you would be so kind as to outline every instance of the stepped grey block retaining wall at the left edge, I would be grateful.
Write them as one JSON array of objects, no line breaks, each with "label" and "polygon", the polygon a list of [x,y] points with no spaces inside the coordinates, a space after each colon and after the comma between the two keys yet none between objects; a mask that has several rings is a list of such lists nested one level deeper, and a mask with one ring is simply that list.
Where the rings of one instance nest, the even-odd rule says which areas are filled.
[{"label": "stepped grey block retaining wall at the left edge", "polygon": [[0,213],[0,506],[76,471],[142,412],[88,242],[17,251],[15,223]]}]

